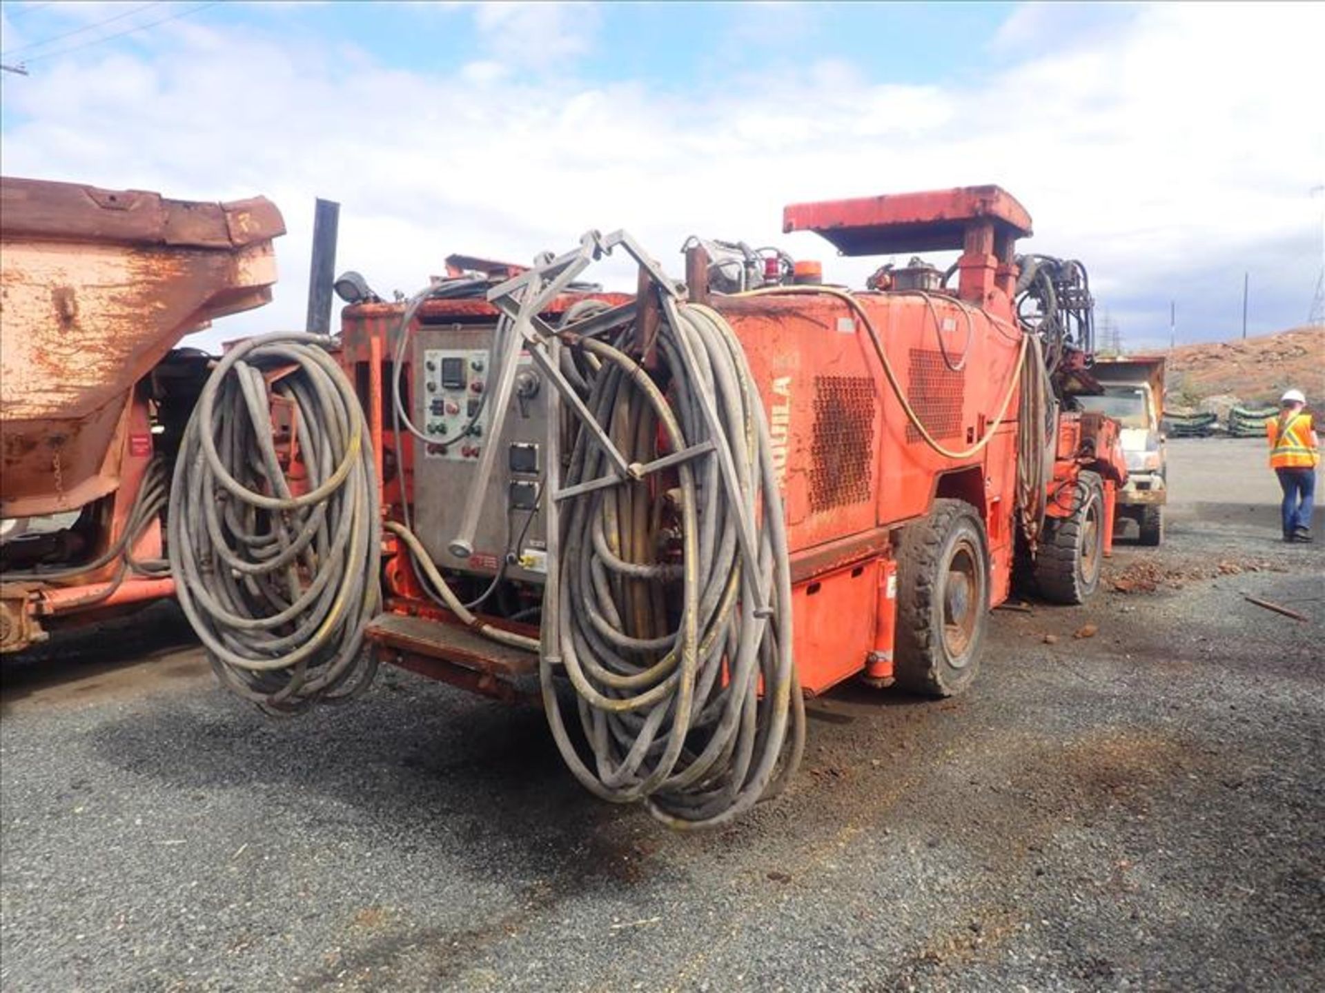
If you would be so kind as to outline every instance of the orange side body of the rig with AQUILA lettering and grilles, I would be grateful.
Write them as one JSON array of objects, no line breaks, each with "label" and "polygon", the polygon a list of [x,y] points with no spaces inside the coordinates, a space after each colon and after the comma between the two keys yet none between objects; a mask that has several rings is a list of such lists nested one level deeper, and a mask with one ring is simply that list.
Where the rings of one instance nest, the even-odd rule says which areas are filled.
[{"label": "orange side body of the rig with AQUILA lettering and grilles", "polygon": [[[902,396],[934,440],[965,451],[987,433],[992,438],[966,458],[930,448],[845,302],[799,294],[714,298],[741,339],[768,417],[799,577],[794,657],[811,692],[877,666],[876,653],[890,653],[890,597],[886,583],[880,593],[880,563],[890,564],[892,530],[926,514],[935,496],[962,496],[984,516],[990,606],[1006,600],[1011,585],[1020,332],[1006,318],[938,294],[856,299],[881,336]],[[1010,389],[1014,397],[996,422]],[[825,556],[825,549],[836,551]],[[886,638],[876,638],[880,626]]]}]

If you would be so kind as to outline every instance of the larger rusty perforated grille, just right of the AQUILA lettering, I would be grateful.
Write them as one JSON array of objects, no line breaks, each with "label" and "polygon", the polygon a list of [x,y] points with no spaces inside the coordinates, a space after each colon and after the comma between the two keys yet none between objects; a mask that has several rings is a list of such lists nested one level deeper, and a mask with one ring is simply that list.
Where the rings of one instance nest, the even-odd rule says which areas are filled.
[{"label": "larger rusty perforated grille, just right of the AQUILA lettering", "polygon": [[863,503],[871,498],[874,449],[874,381],[869,376],[815,376],[815,437],[810,510]]}]

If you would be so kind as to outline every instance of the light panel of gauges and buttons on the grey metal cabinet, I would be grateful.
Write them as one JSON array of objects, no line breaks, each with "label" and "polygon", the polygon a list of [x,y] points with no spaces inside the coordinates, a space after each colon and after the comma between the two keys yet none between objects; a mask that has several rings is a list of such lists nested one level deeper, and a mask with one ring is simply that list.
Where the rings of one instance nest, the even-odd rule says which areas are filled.
[{"label": "light panel of gauges and buttons on the grey metal cabinet", "polygon": [[476,459],[488,442],[488,352],[428,348],[423,354],[424,458]]}]

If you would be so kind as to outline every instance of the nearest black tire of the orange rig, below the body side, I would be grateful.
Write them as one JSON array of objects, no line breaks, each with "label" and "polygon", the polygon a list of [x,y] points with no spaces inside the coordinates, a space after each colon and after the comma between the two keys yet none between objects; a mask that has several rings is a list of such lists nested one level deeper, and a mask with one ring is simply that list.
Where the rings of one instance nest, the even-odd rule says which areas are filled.
[{"label": "nearest black tire of the orange rig, below the body side", "polygon": [[934,500],[902,531],[897,560],[897,686],[951,696],[975,679],[988,620],[984,523],[965,500]]}]

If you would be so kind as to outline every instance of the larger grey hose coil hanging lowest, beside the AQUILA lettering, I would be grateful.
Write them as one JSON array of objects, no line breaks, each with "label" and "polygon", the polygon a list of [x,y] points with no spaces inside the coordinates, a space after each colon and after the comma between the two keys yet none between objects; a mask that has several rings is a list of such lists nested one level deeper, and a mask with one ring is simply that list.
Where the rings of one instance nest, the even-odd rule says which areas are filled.
[{"label": "larger grey hose coil hanging lowest, beside the AQUILA lettering", "polygon": [[[665,302],[651,376],[621,347],[591,356],[587,406],[636,466],[713,445],[676,466],[560,504],[555,612],[545,609],[543,702],[567,765],[591,792],[643,800],[673,828],[721,825],[775,794],[804,751],[791,659],[791,576],[768,426],[745,354],[716,311]],[[620,344],[620,343],[619,343]],[[660,387],[660,383],[662,384]],[[668,389],[664,393],[664,388]],[[714,426],[717,430],[714,430]],[[566,489],[610,474],[580,429]],[[753,547],[743,547],[742,532]],[[550,638],[549,638],[550,636]],[[578,695],[586,760],[555,677]]]}]

